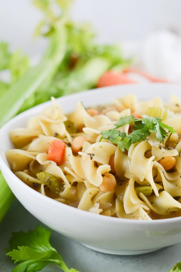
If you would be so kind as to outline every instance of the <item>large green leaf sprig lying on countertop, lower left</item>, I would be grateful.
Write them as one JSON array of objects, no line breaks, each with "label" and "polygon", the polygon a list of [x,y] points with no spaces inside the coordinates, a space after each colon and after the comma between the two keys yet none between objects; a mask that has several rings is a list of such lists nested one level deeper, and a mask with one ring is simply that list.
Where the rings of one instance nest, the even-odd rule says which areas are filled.
[{"label": "large green leaf sprig lying on countertop, lower left", "polygon": [[12,272],[36,272],[51,263],[57,264],[64,272],[80,272],[66,266],[56,249],[50,245],[50,235],[51,231],[42,226],[29,232],[13,232],[7,255],[19,264]]}]

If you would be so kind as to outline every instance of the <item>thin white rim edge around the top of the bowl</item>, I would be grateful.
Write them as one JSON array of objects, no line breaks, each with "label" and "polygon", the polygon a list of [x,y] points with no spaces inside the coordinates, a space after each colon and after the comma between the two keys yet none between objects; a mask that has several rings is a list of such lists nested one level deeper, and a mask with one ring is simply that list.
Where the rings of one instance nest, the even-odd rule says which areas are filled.
[{"label": "thin white rim edge around the top of the bowl", "polygon": [[[144,85],[150,85],[150,84],[146,83]],[[158,86],[165,85],[165,86],[167,86],[168,84],[154,83],[153,85],[158,85]],[[179,87],[180,88],[179,84],[169,84],[169,85],[172,85],[174,87]],[[132,85],[131,84],[127,84],[126,86],[133,86],[133,84]],[[99,91],[99,92],[104,92],[105,89],[117,89],[117,88],[119,89],[120,87],[125,87],[125,86],[124,85],[116,85],[116,86],[102,87],[102,88],[99,88],[99,89],[86,90],[86,91],[82,91],[82,92],[79,92],[79,93],[70,94],[70,95],[66,95],[66,96],[62,96],[62,97],[56,98],[56,101],[59,102],[59,101],[67,100],[68,97],[71,98],[71,99],[73,99],[78,94],[87,94],[87,93],[91,93],[94,90]],[[2,135],[2,133],[3,133],[3,131],[5,129],[7,129],[8,127],[10,127],[11,124],[13,124],[14,122],[16,122],[17,120],[21,119],[24,115],[28,115],[29,112],[33,112],[33,110],[35,110],[35,109],[38,110],[42,106],[46,107],[46,106],[48,106],[51,103],[52,103],[51,101],[47,101],[47,102],[41,103],[41,104],[39,104],[37,106],[34,106],[34,107],[32,107],[32,108],[24,111],[24,112],[21,112],[17,116],[13,117],[5,125],[2,126],[2,128],[0,129],[0,135]],[[67,210],[67,212],[70,212],[70,213],[74,212],[74,215],[76,213],[77,216],[89,217],[90,219],[96,220],[97,223],[99,223],[98,220],[100,220],[102,222],[107,222],[107,223],[116,223],[116,224],[131,223],[132,225],[135,224],[135,225],[144,225],[144,226],[147,226],[147,225],[163,225],[165,223],[172,224],[172,223],[175,223],[175,222],[177,222],[177,223],[181,222],[181,216],[179,216],[179,217],[172,217],[172,218],[165,218],[165,219],[154,219],[154,220],[139,220],[139,219],[133,220],[133,219],[127,219],[127,218],[103,216],[103,215],[100,215],[100,214],[90,213],[90,212],[85,211],[85,210],[80,210],[80,209],[72,207],[70,205],[61,203],[61,202],[56,201],[56,200],[54,200],[52,198],[49,198],[48,196],[42,195],[41,193],[37,192],[33,188],[29,187],[23,181],[21,181],[11,171],[11,169],[6,165],[5,161],[2,158],[2,153],[4,153],[4,152],[0,153],[0,169],[3,168],[4,172],[7,172],[8,175],[11,176],[11,178],[14,179],[17,182],[17,186],[18,185],[22,186],[26,191],[30,190],[30,192],[32,194],[35,194],[35,197],[39,198],[40,200],[44,199],[44,200],[48,201],[50,203],[50,205],[52,205],[52,206],[56,205],[56,207],[60,207],[60,209],[62,207],[63,209]]]}]

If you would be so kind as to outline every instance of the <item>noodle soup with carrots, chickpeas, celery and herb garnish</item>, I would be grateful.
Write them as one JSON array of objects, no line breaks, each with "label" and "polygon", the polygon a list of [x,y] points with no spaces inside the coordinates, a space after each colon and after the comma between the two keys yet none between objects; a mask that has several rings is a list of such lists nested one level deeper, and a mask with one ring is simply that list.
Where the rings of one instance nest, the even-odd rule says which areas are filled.
[{"label": "noodle soup with carrots, chickpeas, celery and herb garnish", "polygon": [[175,95],[63,114],[56,100],[9,133],[11,170],[47,197],[104,216],[181,216],[181,101]]}]

